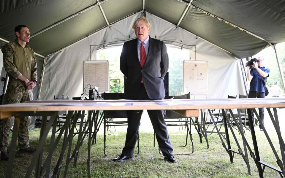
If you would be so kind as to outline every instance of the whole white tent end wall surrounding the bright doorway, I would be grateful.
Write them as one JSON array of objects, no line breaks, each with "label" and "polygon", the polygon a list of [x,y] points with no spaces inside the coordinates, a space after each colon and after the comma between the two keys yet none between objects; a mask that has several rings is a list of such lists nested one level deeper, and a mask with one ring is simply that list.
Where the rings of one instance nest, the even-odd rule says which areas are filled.
[{"label": "whole white tent end wall surrounding the bright doorway", "polygon": [[[141,16],[143,12],[131,15],[112,24],[110,28],[103,28],[61,52],[50,55],[45,65],[39,100],[53,99],[54,95],[69,98],[80,96],[83,88],[83,61],[90,60],[90,46],[100,49],[103,45],[118,46],[134,39],[131,26]],[[208,61],[210,92],[207,98],[246,94],[240,63],[232,54],[155,15],[146,12],[146,17],[151,23],[152,38],[179,47],[196,46],[195,59]]]}]

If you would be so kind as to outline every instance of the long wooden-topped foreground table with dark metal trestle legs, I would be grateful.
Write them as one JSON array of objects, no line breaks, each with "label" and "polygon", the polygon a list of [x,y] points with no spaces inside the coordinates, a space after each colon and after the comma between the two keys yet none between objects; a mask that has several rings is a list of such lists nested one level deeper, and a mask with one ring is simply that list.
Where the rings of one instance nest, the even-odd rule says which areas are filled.
[{"label": "long wooden-topped foreground table with dark metal trestle legs", "polygon": [[[55,105],[50,104],[47,101],[41,101],[42,103],[32,102],[32,103],[19,103],[19,104],[9,104],[9,105],[1,105],[0,106],[0,119],[15,116],[15,126],[14,131],[12,135],[12,140],[10,144],[10,153],[9,153],[9,160],[8,160],[8,166],[7,166],[7,174],[6,177],[12,177],[12,165],[15,157],[15,147],[16,147],[16,140],[18,135],[18,129],[19,129],[19,123],[20,123],[20,117],[21,116],[43,116],[42,120],[42,126],[41,126],[41,132],[40,132],[40,139],[39,139],[39,145],[37,148],[37,151],[34,153],[34,157],[31,160],[31,163],[29,165],[29,168],[26,172],[25,177],[30,177],[31,171],[34,169],[35,166],[35,177],[41,177],[45,173],[45,177],[58,177],[60,169],[62,167],[62,160],[64,157],[64,153],[67,150],[67,159],[66,159],[66,165],[64,169],[64,177],[66,177],[67,171],[68,171],[68,165],[71,163],[72,160],[74,160],[74,166],[76,166],[77,156],[80,149],[80,146],[83,143],[84,138],[88,135],[88,158],[87,158],[87,171],[88,171],[88,177],[90,177],[90,148],[91,148],[91,140],[93,139],[94,142],[96,142],[96,130],[98,131],[98,126],[100,122],[98,122],[98,112],[99,110],[142,110],[142,109],[151,109],[151,110],[157,110],[157,109],[171,109],[175,112],[178,112],[179,114],[184,115],[185,117],[198,117],[199,116],[199,110],[200,109],[222,109],[223,113],[223,120],[224,120],[224,127],[225,127],[225,134],[226,134],[226,142],[227,145],[224,143],[223,138],[221,136],[221,133],[219,133],[219,129],[217,128],[217,125],[215,125],[215,128],[217,132],[219,133],[219,137],[221,139],[222,145],[229,154],[230,162],[233,163],[234,154],[237,153],[242,156],[245,163],[248,166],[248,172],[250,174],[250,167],[248,164],[248,156],[246,154],[247,150],[249,150],[250,156],[254,159],[255,164],[259,171],[259,177],[263,177],[263,171],[265,170],[265,167],[269,167],[275,171],[277,171],[280,176],[285,175],[284,166],[283,163],[285,161],[285,144],[284,139],[281,136],[280,132],[280,126],[277,116],[277,110],[276,108],[285,108],[285,100],[284,98],[278,98],[278,99],[268,99],[268,98],[248,98],[248,99],[206,99],[206,100],[181,100],[179,101],[117,101],[117,104],[103,104],[100,102],[90,102],[86,104],[85,102],[79,102],[79,104],[75,101],[64,101],[61,103],[55,103],[54,100],[51,101],[55,103]],[[104,101],[106,103],[107,101]],[[128,103],[132,104],[128,104]],[[82,105],[80,105],[82,104]],[[241,123],[238,123],[237,119],[235,119],[234,115],[232,114],[232,111],[230,108],[240,108],[240,109],[246,109],[246,108],[252,108],[252,107],[265,107],[267,108],[267,111],[270,115],[270,118],[272,120],[272,123],[276,129],[276,133],[279,140],[282,160],[279,158],[275,147],[273,146],[267,131],[264,127],[264,125],[260,122],[260,118],[258,118],[259,122],[261,123],[261,127],[263,128],[263,131],[265,133],[265,136],[267,138],[267,141],[270,144],[270,147],[276,157],[276,162],[278,164],[279,168],[276,168],[274,166],[269,165],[268,163],[262,162],[259,157],[259,150],[257,146],[256,136],[254,127],[251,127],[251,136],[252,141],[254,145],[254,152],[251,150],[251,148],[248,145],[248,142],[243,134]],[[273,108],[274,117],[270,111],[270,108]],[[238,130],[243,138],[243,149],[240,147],[240,144],[238,143],[238,140],[235,137],[235,134],[232,130],[232,126],[229,124],[229,120],[227,117],[227,114],[225,112],[225,109],[229,109],[229,112],[232,114],[233,120],[235,124],[238,127]],[[62,110],[68,110],[68,119],[67,122],[63,125],[63,128],[60,130],[57,137],[55,137],[55,131],[56,131],[56,120],[58,116],[58,111]],[[80,122],[80,128],[79,128],[79,134],[77,138],[77,143],[75,146],[75,149],[72,151],[72,141],[74,136],[74,128],[76,126],[76,122],[72,123],[71,128],[69,129],[69,122],[71,115],[73,114],[75,119],[78,119],[78,117],[81,115],[81,113],[84,113],[85,110],[89,110],[89,116],[88,120],[85,125],[83,125],[83,118]],[[254,112],[257,115],[256,110],[254,109]],[[97,117],[96,117],[97,115]],[[251,112],[248,112],[249,118],[251,118]],[[50,121],[47,123],[47,116],[51,116]],[[82,114],[81,116],[84,116]],[[240,117],[240,113],[239,113]],[[203,119],[202,119],[203,122]],[[94,123],[96,123],[94,125]],[[215,122],[213,122],[215,123]],[[253,122],[250,119],[249,120],[250,126],[253,126]],[[231,144],[229,140],[229,130],[233,134],[235,142],[238,145],[238,151],[231,149]],[[53,128],[52,136],[51,136],[51,143],[49,148],[48,156],[45,160],[42,160],[42,151],[44,147],[45,140],[47,138],[47,134],[50,130],[50,128]],[[94,131],[92,132],[92,129]],[[200,125],[200,132],[204,134],[203,137],[205,137],[208,145],[208,138],[205,133],[205,122]],[[197,130],[198,130],[197,128]],[[85,130],[88,129],[88,132],[85,132]],[[93,135],[92,135],[93,133]],[[50,163],[51,163],[51,155],[53,154],[56,146],[58,145],[59,140],[61,139],[61,136],[64,134],[64,143],[62,145],[61,154],[57,160],[57,164],[53,171],[50,172]],[[202,139],[202,136],[200,137]],[[263,167],[262,167],[263,165]]]}]

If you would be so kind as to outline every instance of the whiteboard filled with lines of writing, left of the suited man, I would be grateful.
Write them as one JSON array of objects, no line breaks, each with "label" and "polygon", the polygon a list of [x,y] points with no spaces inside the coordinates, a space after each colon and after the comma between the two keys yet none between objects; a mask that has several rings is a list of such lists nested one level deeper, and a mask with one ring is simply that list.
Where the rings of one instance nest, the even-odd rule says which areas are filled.
[{"label": "whiteboard filled with lines of writing, left of the suited man", "polygon": [[91,85],[91,88],[98,87],[99,93],[110,92],[108,60],[83,61],[83,89],[87,85]]}]

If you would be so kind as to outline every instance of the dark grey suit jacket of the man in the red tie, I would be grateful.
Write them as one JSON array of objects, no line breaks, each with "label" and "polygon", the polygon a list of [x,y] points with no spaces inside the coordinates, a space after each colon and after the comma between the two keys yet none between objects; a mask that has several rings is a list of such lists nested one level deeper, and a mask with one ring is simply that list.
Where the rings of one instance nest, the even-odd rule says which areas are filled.
[{"label": "dark grey suit jacket of the man in the red tie", "polygon": [[149,98],[164,98],[162,78],[168,70],[168,65],[169,59],[164,42],[149,38],[148,56],[143,67],[138,59],[137,39],[125,42],[120,58],[120,69],[126,77],[125,98],[137,98],[142,77]]}]

